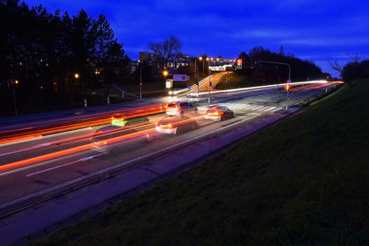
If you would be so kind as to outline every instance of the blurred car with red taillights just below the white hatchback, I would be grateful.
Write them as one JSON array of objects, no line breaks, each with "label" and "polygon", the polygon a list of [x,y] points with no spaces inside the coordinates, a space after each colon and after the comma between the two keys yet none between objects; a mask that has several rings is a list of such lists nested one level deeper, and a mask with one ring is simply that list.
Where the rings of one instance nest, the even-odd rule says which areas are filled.
[{"label": "blurred car with red taillights just below the white hatchback", "polygon": [[186,116],[166,116],[156,123],[155,130],[162,134],[183,134],[198,128],[196,119]]}]

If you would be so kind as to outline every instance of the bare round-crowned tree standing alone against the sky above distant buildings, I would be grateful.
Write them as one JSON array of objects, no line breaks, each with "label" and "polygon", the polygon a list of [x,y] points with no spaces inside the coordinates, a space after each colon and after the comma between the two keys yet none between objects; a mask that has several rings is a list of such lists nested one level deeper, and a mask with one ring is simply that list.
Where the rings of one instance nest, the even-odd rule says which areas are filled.
[{"label": "bare round-crowned tree standing alone against the sky above distant buildings", "polygon": [[165,67],[168,61],[174,59],[179,53],[182,42],[177,37],[171,36],[161,42],[149,43],[148,48],[154,53],[156,62]]}]

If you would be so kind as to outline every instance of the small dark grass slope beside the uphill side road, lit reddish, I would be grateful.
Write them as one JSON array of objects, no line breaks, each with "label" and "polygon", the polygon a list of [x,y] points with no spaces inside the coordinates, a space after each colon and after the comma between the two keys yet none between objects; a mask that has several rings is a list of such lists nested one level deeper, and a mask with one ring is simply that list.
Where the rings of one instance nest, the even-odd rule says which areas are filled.
[{"label": "small dark grass slope beside the uphill side road, lit reddish", "polygon": [[[227,82],[224,82],[224,79],[227,79]],[[216,89],[237,89],[242,87],[249,86],[259,86],[257,82],[252,82],[252,80],[247,75],[238,74],[236,72],[231,72],[227,75],[224,75],[219,79],[219,83],[216,84]]]}]

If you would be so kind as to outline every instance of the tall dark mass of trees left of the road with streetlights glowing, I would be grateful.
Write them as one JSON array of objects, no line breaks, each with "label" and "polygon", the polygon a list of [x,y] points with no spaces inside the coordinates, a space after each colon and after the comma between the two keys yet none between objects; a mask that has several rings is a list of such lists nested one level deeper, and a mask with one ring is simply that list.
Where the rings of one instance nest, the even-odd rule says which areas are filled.
[{"label": "tall dark mass of trees left of the road with streetlights glowing", "polygon": [[[104,15],[70,16],[0,0],[0,110],[82,105],[89,90],[129,76],[125,55]],[[105,100],[105,98],[104,98]]]}]

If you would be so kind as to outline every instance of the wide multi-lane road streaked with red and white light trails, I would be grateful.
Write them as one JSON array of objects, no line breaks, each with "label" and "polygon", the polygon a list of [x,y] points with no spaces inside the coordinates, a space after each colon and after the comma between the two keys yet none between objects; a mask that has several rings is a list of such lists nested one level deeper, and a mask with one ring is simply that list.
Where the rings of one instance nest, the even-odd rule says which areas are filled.
[{"label": "wide multi-lane road streaked with red and white light trails", "polygon": [[[326,88],[332,88],[332,86],[316,89],[306,88],[290,93],[290,105],[323,93]],[[198,129],[179,136],[157,133],[155,122],[165,117],[162,110],[156,110],[157,105],[176,100],[195,101],[196,99],[185,96],[167,96],[138,103],[114,105],[113,107],[100,107],[94,110],[91,108],[81,114],[76,114],[79,112],[78,110],[69,110],[67,112],[46,113],[45,115],[39,114],[34,119],[30,116],[20,117],[23,119],[22,122],[16,122],[17,118],[10,117],[6,118],[4,122],[1,120],[0,127],[3,131],[6,127],[11,129],[11,122],[16,122],[13,124],[18,125],[18,127],[27,124],[31,127],[42,127],[51,124],[50,121],[58,119],[60,119],[59,122],[65,123],[71,120],[70,117],[74,120],[75,116],[84,117],[86,122],[94,117],[102,117],[105,122],[75,131],[48,134],[42,138],[34,138],[32,141],[17,141],[0,145],[0,214],[1,209],[8,212],[5,207],[8,208],[8,205],[12,205],[15,201],[24,200],[24,203],[20,203],[22,206],[27,205],[27,202],[34,202],[35,200],[25,199],[30,198],[34,193],[41,194],[45,191],[46,194],[46,190],[56,187],[60,188],[55,192],[60,193],[71,188],[71,186],[64,186],[65,183],[80,180],[79,183],[73,183],[72,186],[81,185],[95,179],[91,175],[103,169],[115,167],[117,164],[122,164],[120,169],[129,168],[164,155],[165,151],[172,152],[183,148],[183,143],[191,144],[191,141],[195,141],[195,139],[200,141],[200,137],[201,139],[209,138],[212,134],[220,134],[223,130],[231,131],[233,128],[248,124],[254,119],[281,113],[285,110],[286,91],[261,89],[214,94],[212,95],[213,105],[224,105],[235,112],[233,119],[224,122],[203,119],[204,111],[209,105],[203,103],[207,101],[207,97],[202,96],[198,106],[198,115],[191,116],[198,119],[200,125]],[[150,111],[152,113],[149,115],[150,122],[130,127],[136,129],[137,134],[133,139],[121,141],[122,148],[118,153],[99,153],[91,150],[92,134],[98,129],[110,125],[109,120],[113,113],[122,112],[122,110],[137,112],[137,108],[140,110],[140,107],[156,111]],[[27,118],[32,120],[27,120]],[[150,137],[149,141],[147,134]]]}]

